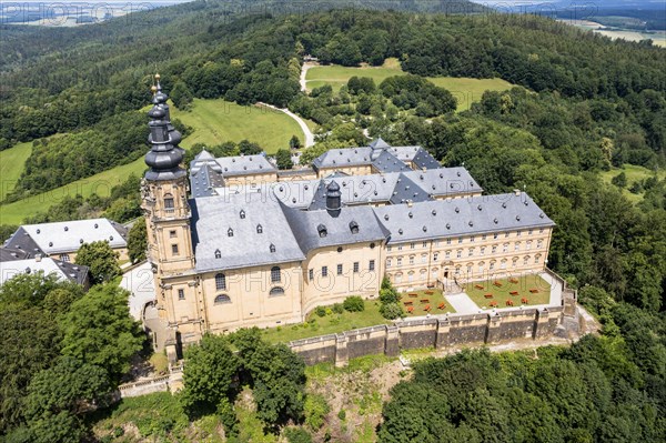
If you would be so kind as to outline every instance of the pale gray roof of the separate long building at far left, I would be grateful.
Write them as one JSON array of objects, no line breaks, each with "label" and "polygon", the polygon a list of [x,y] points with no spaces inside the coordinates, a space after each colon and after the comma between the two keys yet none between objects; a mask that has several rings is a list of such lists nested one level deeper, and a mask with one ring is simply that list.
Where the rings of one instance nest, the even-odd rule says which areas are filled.
[{"label": "pale gray roof of the separate long building at far left", "polygon": [[53,254],[78,251],[83,243],[105,240],[111,248],[127,248],[128,230],[109,219],[72,220],[24,224],[4,243],[6,248]]}]

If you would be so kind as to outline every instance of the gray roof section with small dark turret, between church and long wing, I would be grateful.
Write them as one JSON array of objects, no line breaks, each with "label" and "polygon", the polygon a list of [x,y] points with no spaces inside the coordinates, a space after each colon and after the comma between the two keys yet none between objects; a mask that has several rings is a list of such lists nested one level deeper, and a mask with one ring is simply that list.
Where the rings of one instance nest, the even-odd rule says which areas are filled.
[{"label": "gray roof section with small dark turret, between church and long wing", "polygon": [[[337,217],[326,210],[300,211],[286,207],[283,210],[305,254],[319,248],[380,241],[389,236],[371,207],[343,208]],[[356,233],[352,231],[353,226],[357,228]],[[320,234],[322,229],[325,229],[325,235]]]}]

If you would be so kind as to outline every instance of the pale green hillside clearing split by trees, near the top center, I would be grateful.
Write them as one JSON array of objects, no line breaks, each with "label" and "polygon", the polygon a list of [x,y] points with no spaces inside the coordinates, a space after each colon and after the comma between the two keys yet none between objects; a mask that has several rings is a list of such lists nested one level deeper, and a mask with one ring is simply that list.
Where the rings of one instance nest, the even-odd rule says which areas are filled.
[{"label": "pale green hillside clearing split by trees, near the top center", "polygon": [[[306,74],[307,89],[312,90],[324,84],[331,84],[337,91],[350,78],[370,77],[376,84],[384,79],[404,73],[395,59],[387,59],[382,67],[345,68],[340,66],[326,66],[310,68]],[[502,79],[471,79],[454,77],[430,77],[430,81],[438,87],[446,88],[458,101],[457,110],[470,109],[471,104],[481,100],[484,91],[505,91],[512,84]]]}]

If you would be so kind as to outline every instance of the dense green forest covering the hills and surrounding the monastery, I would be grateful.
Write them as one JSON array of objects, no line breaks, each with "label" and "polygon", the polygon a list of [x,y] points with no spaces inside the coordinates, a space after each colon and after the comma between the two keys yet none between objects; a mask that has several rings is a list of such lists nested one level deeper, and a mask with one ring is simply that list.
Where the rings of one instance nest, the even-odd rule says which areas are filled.
[{"label": "dense green forest covering the hills and surrounding the monastery", "polygon": [[[421,144],[446,167],[464,164],[486,193],[524,189],[535,199],[556,222],[548,268],[578,289],[603,331],[535,354],[470,351],[425,360],[391,391],[376,440],[659,441],[666,434],[666,51],[541,17],[426,14],[418,1],[403,11],[312,8],[233,16],[221,2],[196,1],[142,12],[124,23],[49,30],[48,39],[2,27],[0,39],[11,50],[0,54],[0,82],[8,85],[0,90],[0,149],[34,141],[9,199],[140,157],[147,119],[138,111],[149,102],[155,69],[179,109],[192,98],[261,100],[315,121],[317,143],[303,151],[303,162],[330,148],[366,143],[363,130],[394,145]],[[339,92],[324,85],[305,94],[297,79],[306,54],[343,66],[381,64],[391,57],[406,73],[380,84],[360,73]],[[451,91],[424,79],[436,75],[498,77],[515,87],[486,92],[456,113]],[[261,149],[249,142],[209,148],[219,155]],[[188,159],[200,149],[193,147]],[[610,183],[602,180],[626,164],[645,168],[649,177],[630,189],[624,172]],[[69,198],[28,221],[100,213],[131,220],[141,213],[138,189],[139,178],[130,177],[109,198]],[[635,203],[627,192],[637,197]],[[2,226],[0,233],[4,238],[14,229]],[[103,399],[81,386],[110,391],[131,354],[141,351],[135,325],[120,308],[127,294],[109,284],[85,295],[77,291],[34,279],[0,290],[9,338],[0,346],[8,363],[0,369],[0,435],[9,433],[8,441],[68,441],[53,433],[59,429],[90,437],[97,415],[78,405],[101,405]],[[115,305],[125,342],[84,353],[73,325],[98,332],[77,312],[93,316]],[[28,336],[26,330],[40,333]],[[238,426],[245,413],[238,405],[245,395],[241,386],[205,384],[233,377],[253,390],[266,435],[319,441],[329,425],[322,417],[341,411],[305,395],[302,362],[283,348],[260,344],[253,334],[206,339],[192,349],[189,358],[199,364],[185,374],[178,400],[185,419],[179,420],[212,414],[230,436],[248,440]],[[223,363],[234,346],[241,354],[233,364]],[[30,359],[14,359],[19,349]],[[201,349],[211,351],[211,360]],[[266,361],[280,370],[258,375]],[[90,365],[85,374],[75,369],[82,364]],[[69,402],[52,404],[58,386],[50,380],[81,389],[72,390]],[[287,422],[303,432],[287,432],[294,429],[285,430]]]}]

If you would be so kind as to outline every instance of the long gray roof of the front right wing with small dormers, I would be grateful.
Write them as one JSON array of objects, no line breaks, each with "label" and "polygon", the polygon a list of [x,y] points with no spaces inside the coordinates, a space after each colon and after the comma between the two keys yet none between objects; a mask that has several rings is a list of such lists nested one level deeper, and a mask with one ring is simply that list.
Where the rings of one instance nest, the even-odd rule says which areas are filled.
[{"label": "long gray roof of the front right wing with small dormers", "polygon": [[391,231],[390,243],[555,224],[524,192],[385,205],[374,211]]}]

